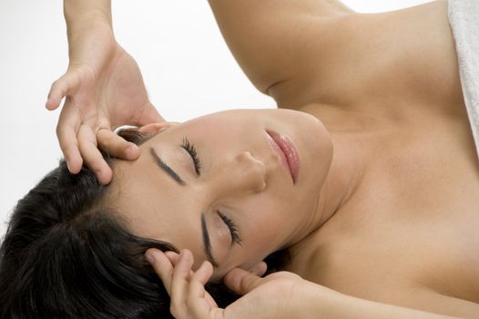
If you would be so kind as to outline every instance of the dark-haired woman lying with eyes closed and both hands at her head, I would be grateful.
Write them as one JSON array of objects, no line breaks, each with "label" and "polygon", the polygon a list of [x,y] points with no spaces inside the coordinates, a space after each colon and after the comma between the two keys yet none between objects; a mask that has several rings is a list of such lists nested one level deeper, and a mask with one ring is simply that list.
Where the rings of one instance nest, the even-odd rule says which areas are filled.
[{"label": "dark-haired woman lying with eyes closed and both hands at her head", "polygon": [[[115,41],[109,2],[66,1],[70,66],[46,107],[67,97],[57,134],[81,173],[62,164],[18,205],[5,314],[159,314],[161,284],[140,256],[157,247],[182,251],[146,253],[178,318],[477,316],[478,167],[447,2],[380,15],[209,3],[253,84],[290,109],[168,123]],[[111,131],[123,124],[140,126],[123,133],[139,148]],[[37,194],[55,213],[36,218]],[[286,248],[288,272],[252,274]],[[224,310],[204,291],[222,277],[245,294]],[[40,286],[55,298],[34,296]]]}]

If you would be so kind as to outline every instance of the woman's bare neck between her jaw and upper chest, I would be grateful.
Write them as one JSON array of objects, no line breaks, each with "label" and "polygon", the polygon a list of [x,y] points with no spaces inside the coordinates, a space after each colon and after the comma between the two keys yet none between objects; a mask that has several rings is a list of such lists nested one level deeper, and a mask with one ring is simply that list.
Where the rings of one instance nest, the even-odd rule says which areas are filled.
[{"label": "woman's bare neck between her jaw and upper chest", "polygon": [[321,186],[314,219],[308,225],[310,229],[305,232],[311,233],[352,199],[378,155],[374,145],[384,139],[391,125],[382,116],[359,111],[319,105],[301,108],[301,111],[321,119],[333,146],[330,170]]}]

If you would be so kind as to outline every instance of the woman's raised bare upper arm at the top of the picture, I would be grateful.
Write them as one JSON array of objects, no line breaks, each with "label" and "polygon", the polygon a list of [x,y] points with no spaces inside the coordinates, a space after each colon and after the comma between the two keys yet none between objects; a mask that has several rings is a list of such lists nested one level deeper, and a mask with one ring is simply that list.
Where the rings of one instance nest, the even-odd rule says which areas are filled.
[{"label": "woman's raised bare upper arm at the top of the picture", "polygon": [[337,0],[209,0],[229,49],[261,92],[305,74],[321,36],[320,16],[349,8]]}]

